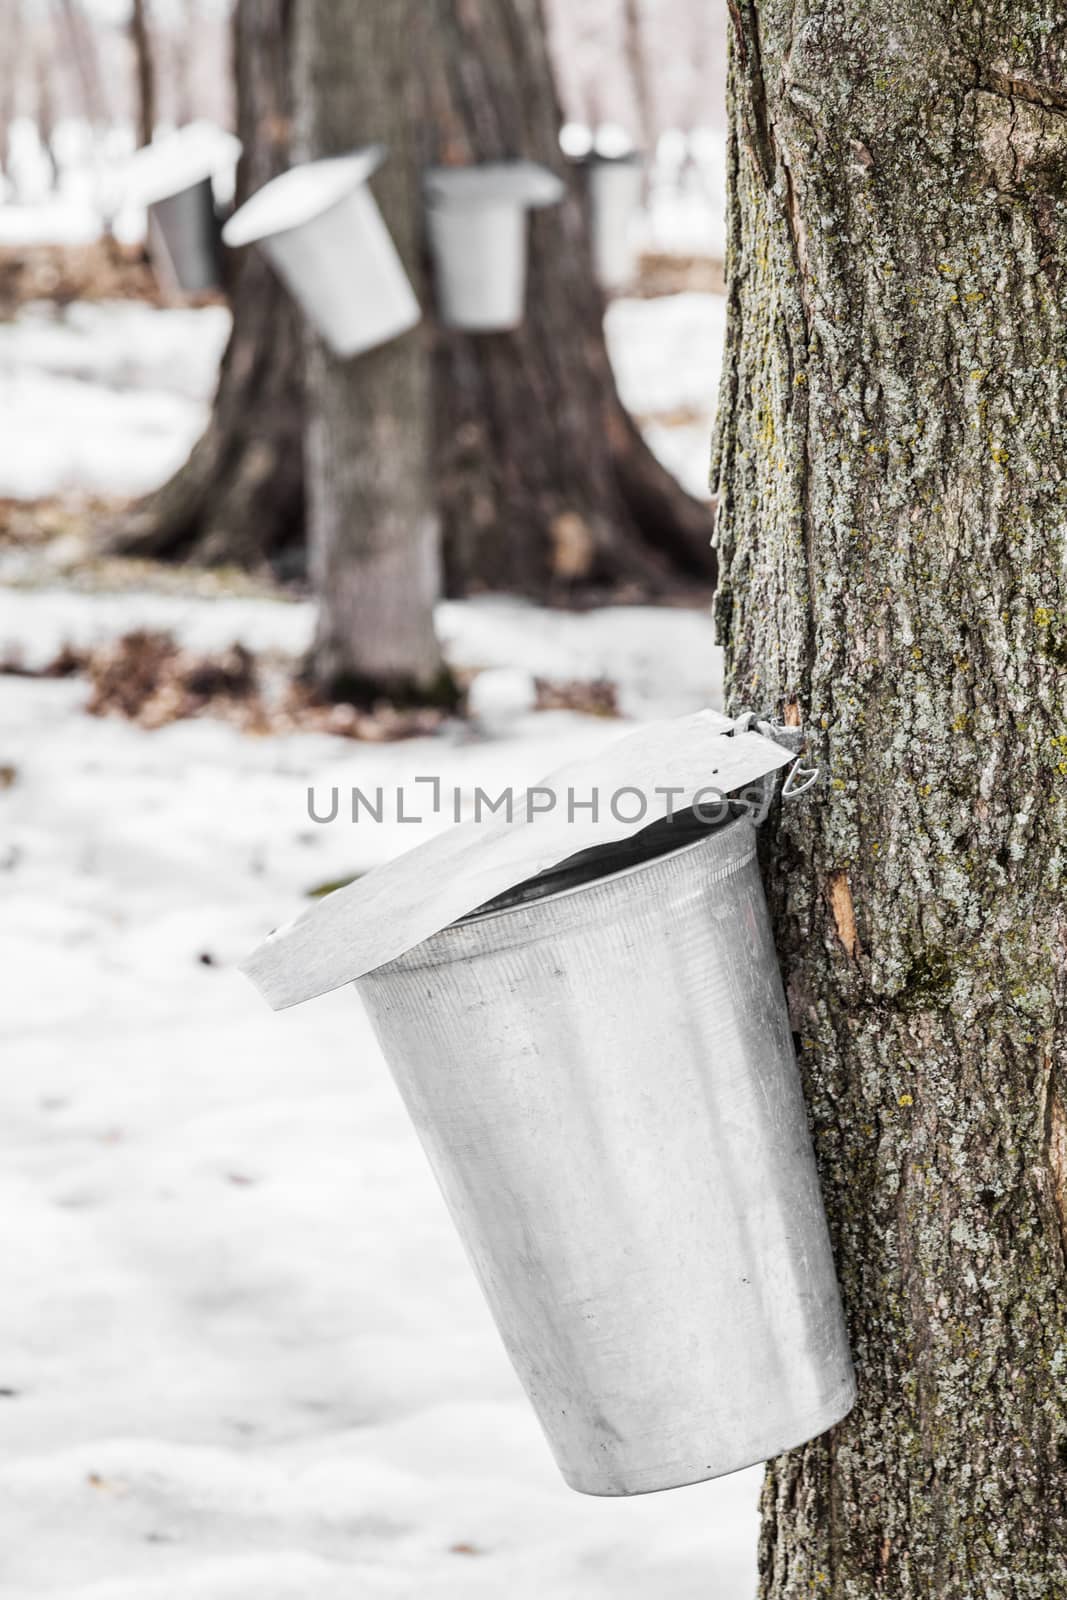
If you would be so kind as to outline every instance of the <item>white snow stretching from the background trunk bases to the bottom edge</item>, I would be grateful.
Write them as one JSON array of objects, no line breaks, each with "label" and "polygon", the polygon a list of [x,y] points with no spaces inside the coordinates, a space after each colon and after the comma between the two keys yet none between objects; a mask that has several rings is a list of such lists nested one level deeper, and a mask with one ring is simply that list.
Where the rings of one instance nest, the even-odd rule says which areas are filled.
[{"label": "white snow stretching from the background trunk bases to the bottom edge", "polygon": [[[131,621],[294,650],[309,608],[8,592],[0,640]],[[643,712],[713,677],[697,613],[486,600],[442,629],[459,664],[613,670]],[[357,998],[272,1014],[234,970],[309,890],[421,837],[314,824],[309,786],[522,786],[622,726],[146,733],[85,717],[85,693],[0,678],[0,1590],[742,1600],[758,1472],[566,1490]]]}]

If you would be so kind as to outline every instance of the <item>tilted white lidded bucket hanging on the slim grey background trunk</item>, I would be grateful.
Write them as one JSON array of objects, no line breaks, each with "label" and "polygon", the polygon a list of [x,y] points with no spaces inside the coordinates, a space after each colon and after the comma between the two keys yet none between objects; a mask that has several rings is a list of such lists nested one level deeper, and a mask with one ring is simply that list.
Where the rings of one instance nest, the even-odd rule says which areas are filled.
[{"label": "tilted white lidded bucket hanging on the slim grey background trunk", "polygon": [[368,178],[370,146],[293,166],[234,213],[222,238],[261,245],[334,355],[350,357],[414,328],[421,310]]}]

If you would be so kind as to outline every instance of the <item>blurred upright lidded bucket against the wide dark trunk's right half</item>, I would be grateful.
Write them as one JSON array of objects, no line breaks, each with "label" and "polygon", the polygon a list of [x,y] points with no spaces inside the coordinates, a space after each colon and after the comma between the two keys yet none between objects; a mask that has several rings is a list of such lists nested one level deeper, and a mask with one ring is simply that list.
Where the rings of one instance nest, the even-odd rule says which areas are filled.
[{"label": "blurred upright lidded bucket against the wide dark trunk's right half", "polygon": [[437,166],[426,174],[437,309],[446,328],[518,328],[526,306],[526,211],[565,186],[533,162]]}]

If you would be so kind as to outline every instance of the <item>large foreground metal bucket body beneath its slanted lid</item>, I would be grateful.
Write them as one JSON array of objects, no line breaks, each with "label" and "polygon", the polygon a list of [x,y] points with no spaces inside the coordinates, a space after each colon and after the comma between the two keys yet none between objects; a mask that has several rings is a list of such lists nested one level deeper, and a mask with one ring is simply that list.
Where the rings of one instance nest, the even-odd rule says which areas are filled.
[{"label": "large foreground metal bucket body beneath its slanted lid", "polygon": [[854,1398],[755,829],[670,848],[670,826],[357,979],[563,1477],[589,1494],[734,1472]]}]

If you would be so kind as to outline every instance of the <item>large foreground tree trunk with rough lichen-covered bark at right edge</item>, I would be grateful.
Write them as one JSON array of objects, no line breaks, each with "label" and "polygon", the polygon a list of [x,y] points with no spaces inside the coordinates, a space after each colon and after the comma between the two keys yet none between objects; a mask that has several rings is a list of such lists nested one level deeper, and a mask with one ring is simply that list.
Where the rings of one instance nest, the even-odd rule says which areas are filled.
[{"label": "large foreground tree trunk with rough lichen-covered bark at right edge", "polygon": [[[733,0],[718,624],[825,784],[768,850],[859,1402],[797,1600],[1067,1594],[1062,29]],[[1056,42],[1059,40],[1059,42]]]}]

